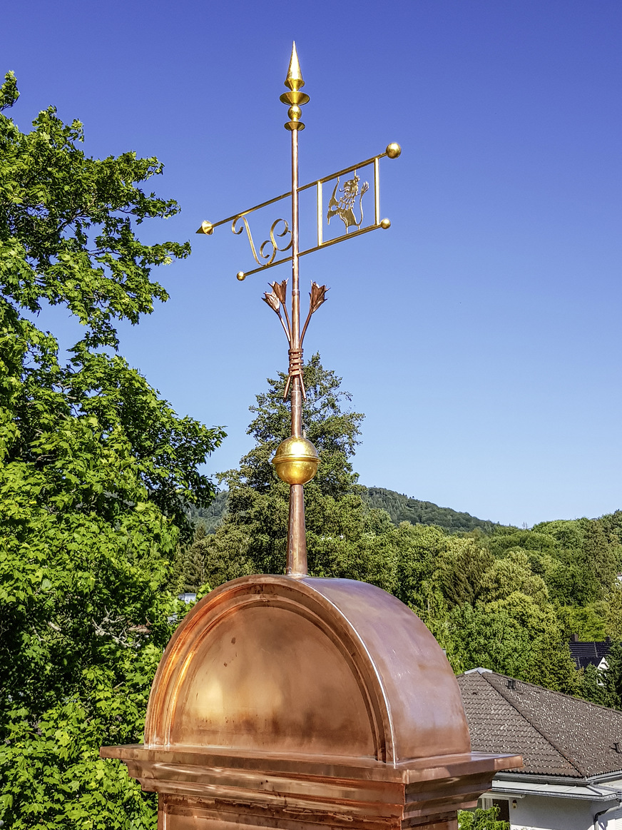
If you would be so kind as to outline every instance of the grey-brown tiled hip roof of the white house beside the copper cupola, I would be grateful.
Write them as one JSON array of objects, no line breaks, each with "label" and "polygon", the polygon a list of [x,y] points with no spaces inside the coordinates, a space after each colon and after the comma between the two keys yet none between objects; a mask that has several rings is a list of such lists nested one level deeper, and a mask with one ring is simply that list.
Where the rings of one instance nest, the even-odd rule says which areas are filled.
[{"label": "grey-brown tiled hip roof of the white house beside the copper cupola", "polygon": [[622,712],[519,680],[510,688],[510,680],[481,668],[458,677],[474,751],[522,754],[512,774],[584,779],[622,770]]}]

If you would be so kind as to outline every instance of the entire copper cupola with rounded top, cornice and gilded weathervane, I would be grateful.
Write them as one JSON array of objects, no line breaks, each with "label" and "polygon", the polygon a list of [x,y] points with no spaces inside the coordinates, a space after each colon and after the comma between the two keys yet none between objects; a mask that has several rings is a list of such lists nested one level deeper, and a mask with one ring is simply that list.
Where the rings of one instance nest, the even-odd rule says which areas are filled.
[{"label": "entire copper cupola with rounded top, cornice and gilded weathervane", "polygon": [[[246,232],[258,267],[238,271],[240,281],[291,263],[290,309],[286,280],[263,297],[289,344],[291,437],[274,459],[289,484],[286,573],[236,579],[197,603],[158,667],[144,744],[100,751],[158,793],[158,830],[453,830],[457,810],[473,806],[498,769],[521,759],[471,752],[454,673],[410,608],[374,585],[307,575],[303,488],[319,459],[304,436],[302,345],[327,288],[312,283],[301,329],[299,256],[391,226],[380,214],[379,164],[401,148],[389,144],[300,187],[300,117],[309,95],[300,91],[295,46],[285,85],[290,193],[206,220],[198,232],[213,236],[225,222]],[[364,177],[372,182],[371,211],[363,209]],[[299,192],[308,188],[316,193],[317,245],[299,251]],[[270,238],[255,245],[255,212],[286,198],[291,224],[275,219]]]}]

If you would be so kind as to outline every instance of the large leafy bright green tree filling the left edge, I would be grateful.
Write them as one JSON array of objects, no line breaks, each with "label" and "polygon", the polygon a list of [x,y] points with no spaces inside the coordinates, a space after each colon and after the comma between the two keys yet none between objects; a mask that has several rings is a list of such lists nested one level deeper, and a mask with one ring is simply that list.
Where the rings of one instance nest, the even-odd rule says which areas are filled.
[{"label": "large leafy bright green tree filling the left edge", "polygon": [[[17,99],[14,77],[0,107]],[[0,815],[22,828],[153,827],[153,800],[101,744],[138,740],[176,603],[163,593],[197,471],[220,430],[180,418],[116,354],[118,320],[167,295],[187,243],[135,227],[177,212],[138,186],[157,159],[90,159],[52,108],[0,115]],[[46,304],[84,326],[63,364]],[[178,613],[182,613],[177,608]]]}]

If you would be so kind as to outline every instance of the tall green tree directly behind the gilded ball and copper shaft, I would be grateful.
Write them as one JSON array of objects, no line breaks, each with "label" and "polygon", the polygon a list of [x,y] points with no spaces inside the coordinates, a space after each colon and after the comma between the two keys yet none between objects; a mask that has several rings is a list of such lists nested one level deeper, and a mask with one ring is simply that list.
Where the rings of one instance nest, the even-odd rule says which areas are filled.
[{"label": "tall green tree directly behind the gilded ball and copper shaft", "polygon": [[[283,573],[289,516],[289,486],[279,481],[270,459],[289,436],[285,375],[269,379],[267,392],[250,408],[248,433],[255,446],[240,467],[223,474],[228,510],[206,540],[206,576],[211,584],[246,573]],[[362,414],[347,408],[341,378],[323,369],[319,355],[304,366],[304,431],[318,450],[318,474],[304,488],[309,573],[349,577],[396,589],[396,528],[383,510],[363,504],[350,460]]]}]

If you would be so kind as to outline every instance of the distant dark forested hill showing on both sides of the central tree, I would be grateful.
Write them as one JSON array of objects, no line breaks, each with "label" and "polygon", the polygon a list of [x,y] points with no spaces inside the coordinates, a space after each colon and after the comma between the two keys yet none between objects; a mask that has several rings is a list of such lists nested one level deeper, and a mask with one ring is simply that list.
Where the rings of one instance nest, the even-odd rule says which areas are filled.
[{"label": "distant dark forested hill showing on both sides of the central tree", "polygon": [[[226,490],[218,493],[209,507],[190,508],[192,520],[205,525],[207,533],[213,533],[225,515],[227,496]],[[450,507],[439,507],[432,501],[411,499],[395,490],[386,490],[385,487],[365,487],[362,491],[362,500],[370,507],[379,507],[391,516],[394,525],[401,521],[410,521],[411,525],[438,525],[444,530],[475,530],[479,527],[484,533],[490,533],[495,527],[492,521],[478,519],[470,513],[459,513]]]}]

